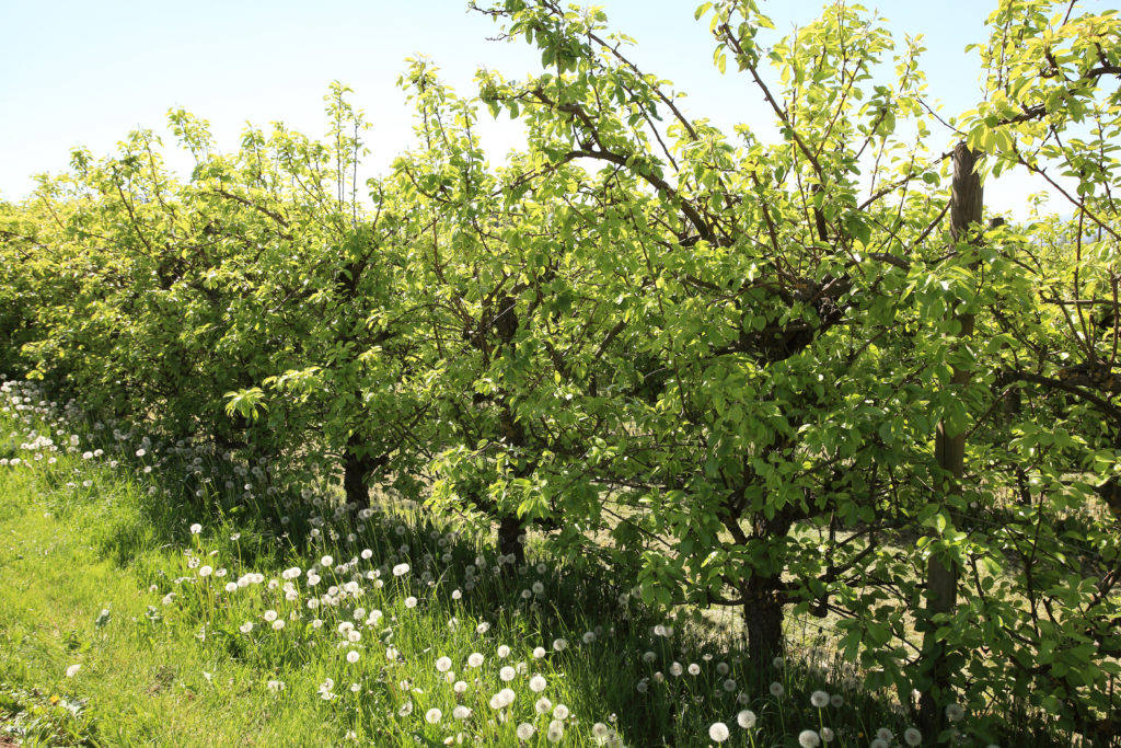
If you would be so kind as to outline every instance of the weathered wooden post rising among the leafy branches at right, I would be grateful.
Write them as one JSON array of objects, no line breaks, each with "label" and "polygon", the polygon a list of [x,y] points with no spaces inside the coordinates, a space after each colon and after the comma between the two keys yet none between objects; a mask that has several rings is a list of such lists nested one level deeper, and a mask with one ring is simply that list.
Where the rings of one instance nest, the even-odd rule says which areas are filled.
[{"label": "weathered wooden post rising among the leafy branches at right", "polygon": [[[981,222],[982,187],[981,177],[974,170],[975,164],[976,154],[964,142],[957,144],[954,148],[954,179],[949,198],[949,233],[955,243],[966,236],[971,224]],[[973,334],[973,315],[955,314],[954,318],[961,325],[958,340],[970,338]],[[969,381],[970,372],[955,366],[951,386],[958,397],[963,395]],[[938,467],[946,474],[942,493],[960,495],[961,481],[965,474],[965,432],[951,434],[947,424],[941,422],[935,435],[934,451]],[[951,692],[948,653],[945,645],[935,639],[937,627],[930,624],[929,619],[938,613],[954,611],[957,603],[957,578],[958,570],[955,564],[944,563],[934,555],[930,556],[926,578],[927,628],[923,636],[923,654],[919,663],[923,675],[929,682],[919,696],[919,721],[927,739],[934,738],[945,728],[943,705],[948,702],[947,695]]]}]

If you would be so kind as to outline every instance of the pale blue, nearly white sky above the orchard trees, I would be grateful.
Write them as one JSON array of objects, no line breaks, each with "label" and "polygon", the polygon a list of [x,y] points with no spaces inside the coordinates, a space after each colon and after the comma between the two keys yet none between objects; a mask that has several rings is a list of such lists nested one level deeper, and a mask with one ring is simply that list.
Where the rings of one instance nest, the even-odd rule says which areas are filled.
[{"label": "pale blue, nearly white sky above the orchard trees", "polygon": [[[694,0],[602,0],[613,28],[634,37],[631,56],[688,93],[693,117],[766,129],[770,116],[745,77],[712,65],[707,24]],[[966,44],[984,38],[992,4],[978,0],[883,0],[869,8],[890,19],[897,38],[923,34],[924,70],[945,114],[980,98],[979,63]],[[994,4],[994,3],[993,3]],[[1087,0],[1088,8],[1102,0]],[[818,0],[765,0],[778,30],[813,19]],[[352,101],[373,122],[369,168],[385,168],[410,142],[411,111],[396,87],[404,58],[424,54],[461,93],[473,91],[479,66],[520,77],[537,65],[526,44],[489,41],[489,18],[465,0],[3,0],[0,2],[0,196],[25,197],[31,175],[66,167],[71,148],[101,156],[131,129],[166,133],[173,107],[211,121],[223,150],[234,150],[245,122],[282,120],[311,136],[326,129],[323,95],[333,80],[354,89]],[[517,146],[519,131],[483,114],[481,136],[492,160]],[[948,132],[938,133],[948,142]],[[937,147],[941,147],[941,141]],[[173,166],[185,157],[169,157]],[[1023,205],[1025,179],[990,187],[990,205]],[[1003,196],[1000,193],[1004,193]]]}]

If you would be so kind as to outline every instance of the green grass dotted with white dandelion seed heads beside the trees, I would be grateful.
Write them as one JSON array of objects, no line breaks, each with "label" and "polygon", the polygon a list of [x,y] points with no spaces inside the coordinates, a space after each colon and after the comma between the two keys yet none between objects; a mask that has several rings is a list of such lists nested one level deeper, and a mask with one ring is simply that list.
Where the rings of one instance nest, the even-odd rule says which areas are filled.
[{"label": "green grass dotted with white dandelion seed heads beside the trees", "polygon": [[[253,473],[191,445],[114,438],[75,413],[0,405],[0,737],[706,746],[720,721],[724,745],[797,746],[800,731],[825,727],[832,747],[868,746],[878,729],[901,745],[908,727],[843,663],[812,652],[749,663],[590,569],[536,558],[503,572],[487,539],[416,510],[356,516],[331,487],[287,484],[279,471]],[[35,436],[56,444],[33,447]],[[408,571],[395,574],[401,564]],[[286,579],[294,567],[299,575]],[[661,636],[658,625],[675,630]],[[567,646],[554,647],[559,639]],[[512,701],[492,705],[503,687]],[[840,705],[812,707],[816,690]],[[541,713],[541,698],[565,709]],[[456,719],[456,707],[470,715]],[[426,720],[432,709],[438,720]],[[757,718],[749,730],[736,724],[743,710]],[[553,721],[564,728],[558,744],[547,737]],[[524,723],[534,727],[525,740]]]}]

